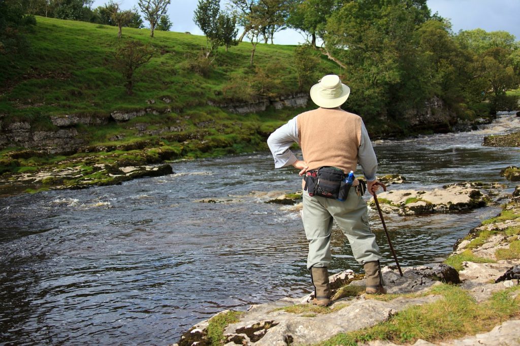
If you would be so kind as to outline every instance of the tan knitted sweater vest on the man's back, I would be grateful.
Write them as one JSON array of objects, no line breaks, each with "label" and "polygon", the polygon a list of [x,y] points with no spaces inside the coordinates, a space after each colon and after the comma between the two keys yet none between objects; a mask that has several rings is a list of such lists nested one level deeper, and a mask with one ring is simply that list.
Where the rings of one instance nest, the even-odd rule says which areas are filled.
[{"label": "tan knitted sweater vest on the man's back", "polygon": [[308,170],[322,166],[356,171],[361,117],[339,108],[318,108],[298,115],[298,139]]}]

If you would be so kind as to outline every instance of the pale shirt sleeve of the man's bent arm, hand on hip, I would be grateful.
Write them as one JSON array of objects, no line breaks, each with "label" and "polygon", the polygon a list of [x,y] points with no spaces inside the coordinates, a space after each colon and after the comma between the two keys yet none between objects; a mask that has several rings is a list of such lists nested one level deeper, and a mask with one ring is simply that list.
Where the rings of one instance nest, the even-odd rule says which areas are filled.
[{"label": "pale shirt sleeve of the man's bent arm, hand on hip", "polygon": [[277,128],[267,139],[267,145],[275,159],[275,168],[290,166],[297,161],[296,156],[289,149],[293,143],[298,143],[296,117]]}]

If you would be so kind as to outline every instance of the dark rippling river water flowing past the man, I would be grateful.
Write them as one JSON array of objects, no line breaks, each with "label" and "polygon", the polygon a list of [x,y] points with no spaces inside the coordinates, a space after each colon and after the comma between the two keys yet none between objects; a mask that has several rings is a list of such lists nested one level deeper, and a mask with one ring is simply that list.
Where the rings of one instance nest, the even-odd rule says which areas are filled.
[{"label": "dark rippling river water flowing past the man", "polygon": [[[518,165],[520,151],[480,144],[520,129],[518,119],[503,114],[477,131],[378,141],[379,172],[410,181],[390,189],[477,180],[511,192],[499,171]],[[300,215],[251,194],[296,191],[293,169],[275,170],[268,153],[173,167],[173,175],[122,185],[0,199],[0,344],[168,344],[223,309],[310,291]],[[425,264],[498,210],[386,223],[400,263]],[[392,264],[378,216],[370,216],[382,262]],[[361,271],[337,229],[332,246],[332,273]]]}]

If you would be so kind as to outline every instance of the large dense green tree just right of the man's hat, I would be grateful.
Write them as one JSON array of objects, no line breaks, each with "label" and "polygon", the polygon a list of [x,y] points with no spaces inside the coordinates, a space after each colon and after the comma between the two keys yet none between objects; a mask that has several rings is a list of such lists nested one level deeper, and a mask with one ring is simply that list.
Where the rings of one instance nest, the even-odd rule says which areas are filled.
[{"label": "large dense green tree just right of the man's hat", "polygon": [[345,68],[342,79],[357,90],[350,99],[356,111],[399,115],[417,29],[429,18],[426,0],[348,2],[330,15],[324,52]]}]

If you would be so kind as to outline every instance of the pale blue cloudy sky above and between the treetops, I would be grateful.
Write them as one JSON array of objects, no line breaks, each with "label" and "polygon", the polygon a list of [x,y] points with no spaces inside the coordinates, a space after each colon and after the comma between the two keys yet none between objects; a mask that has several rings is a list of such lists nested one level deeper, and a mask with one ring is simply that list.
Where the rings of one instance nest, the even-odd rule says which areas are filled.
[{"label": "pale blue cloudy sky above and between the treetops", "polygon": [[[95,0],[93,8],[102,6],[108,0]],[[137,0],[114,0],[122,9],[137,7]],[[221,8],[228,2],[222,0]],[[193,22],[193,11],[198,0],[171,0],[168,17],[173,22],[171,31],[190,32],[202,35],[202,31]],[[484,29],[486,31],[507,31],[520,41],[520,0],[428,0],[432,14],[438,12],[441,17],[448,18],[452,30]],[[147,23],[145,23],[147,25]],[[239,32],[240,35],[241,32]],[[275,34],[274,42],[282,45],[295,45],[305,42],[305,36],[294,30],[284,30]]]}]

